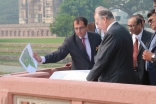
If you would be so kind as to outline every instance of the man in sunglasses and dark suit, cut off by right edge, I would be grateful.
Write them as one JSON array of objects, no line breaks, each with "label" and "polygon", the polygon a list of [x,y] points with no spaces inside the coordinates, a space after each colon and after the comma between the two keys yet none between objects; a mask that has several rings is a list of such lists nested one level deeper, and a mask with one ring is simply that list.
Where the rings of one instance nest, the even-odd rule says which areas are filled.
[{"label": "man in sunglasses and dark suit, cut off by right edge", "polygon": [[[147,14],[148,23],[156,31],[155,9]],[[152,35],[148,50],[143,52],[143,59],[146,60],[146,70],[149,71],[150,84],[156,85],[156,33]]]}]

